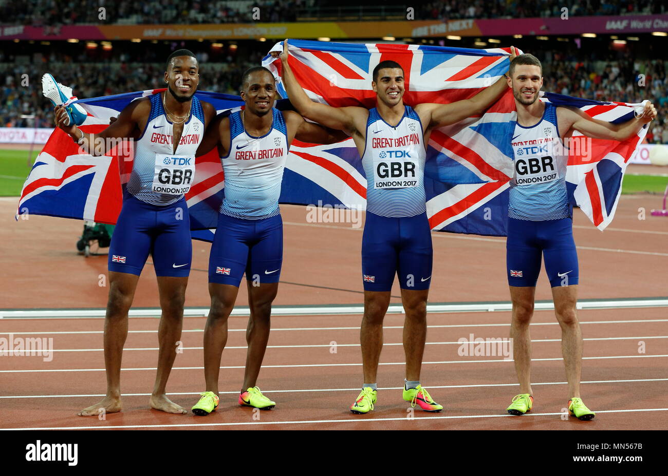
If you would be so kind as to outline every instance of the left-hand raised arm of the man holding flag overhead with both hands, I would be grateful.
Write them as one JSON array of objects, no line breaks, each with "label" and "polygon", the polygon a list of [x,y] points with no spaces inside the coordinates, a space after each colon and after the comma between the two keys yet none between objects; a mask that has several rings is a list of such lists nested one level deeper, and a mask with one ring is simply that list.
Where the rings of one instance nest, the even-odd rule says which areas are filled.
[{"label": "left-hand raised arm of the man holding flag overhead with both hands", "polygon": [[355,118],[357,115],[368,115],[367,109],[364,107],[332,107],[331,105],[311,101],[297,82],[297,78],[295,78],[295,74],[288,64],[288,55],[288,41],[286,39],[283,41],[283,53],[281,53],[283,85],[297,111],[304,117],[308,117],[327,128],[345,131],[350,135],[355,132],[364,134],[364,131],[357,131],[359,122],[355,121]]}]

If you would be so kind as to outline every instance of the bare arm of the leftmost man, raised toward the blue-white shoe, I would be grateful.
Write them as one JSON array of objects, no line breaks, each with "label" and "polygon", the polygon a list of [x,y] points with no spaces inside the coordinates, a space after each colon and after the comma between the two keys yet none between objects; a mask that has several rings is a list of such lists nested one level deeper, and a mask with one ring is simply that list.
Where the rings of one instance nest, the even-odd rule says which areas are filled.
[{"label": "bare arm of the leftmost man, raised toward the blue-white shoe", "polygon": [[[75,124],[65,126],[67,122],[67,111],[62,105],[55,107],[55,125],[69,134],[73,140],[79,143],[81,148],[92,156],[104,156],[107,151],[107,139],[131,139],[140,130],[140,120],[150,113],[151,103],[148,99],[132,101],[121,111],[118,119],[110,124],[108,128],[98,134],[84,134]],[[118,144],[110,144],[114,147]]]}]

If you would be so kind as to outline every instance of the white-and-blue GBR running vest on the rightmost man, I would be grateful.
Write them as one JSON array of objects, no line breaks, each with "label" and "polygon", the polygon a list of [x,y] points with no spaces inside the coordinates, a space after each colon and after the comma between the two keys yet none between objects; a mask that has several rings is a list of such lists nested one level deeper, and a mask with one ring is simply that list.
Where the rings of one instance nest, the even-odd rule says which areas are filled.
[{"label": "white-and-blue GBR running vest on the rightmost man", "polygon": [[536,222],[570,217],[568,155],[559,137],[556,106],[545,103],[542,120],[530,128],[516,124],[513,136],[515,173],[510,181],[508,216]]}]

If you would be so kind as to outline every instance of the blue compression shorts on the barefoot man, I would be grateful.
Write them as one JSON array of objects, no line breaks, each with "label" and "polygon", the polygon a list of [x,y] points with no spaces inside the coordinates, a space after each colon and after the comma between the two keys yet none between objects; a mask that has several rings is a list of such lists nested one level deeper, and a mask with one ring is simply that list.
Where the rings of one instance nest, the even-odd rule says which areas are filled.
[{"label": "blue compression shorts on the barefoot man", "polygon": [[109,246],[109,270],[139,276],[149,254],[156,276],[190,274],[192,241],[186,198],[171,205],[153,205],[124,194]]}]

